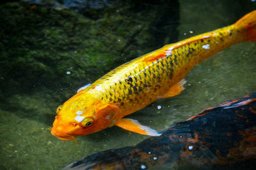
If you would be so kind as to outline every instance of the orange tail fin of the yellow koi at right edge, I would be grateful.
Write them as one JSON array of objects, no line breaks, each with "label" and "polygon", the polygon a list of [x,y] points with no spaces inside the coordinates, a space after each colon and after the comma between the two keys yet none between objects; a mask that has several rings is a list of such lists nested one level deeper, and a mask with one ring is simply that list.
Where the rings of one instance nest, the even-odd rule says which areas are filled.
[{"label": "orange tail fin of the yellow koi at right edge", "polygon": [[256,10],[244,15],[235,25],[245,29],[246,41],[256,42]]}]

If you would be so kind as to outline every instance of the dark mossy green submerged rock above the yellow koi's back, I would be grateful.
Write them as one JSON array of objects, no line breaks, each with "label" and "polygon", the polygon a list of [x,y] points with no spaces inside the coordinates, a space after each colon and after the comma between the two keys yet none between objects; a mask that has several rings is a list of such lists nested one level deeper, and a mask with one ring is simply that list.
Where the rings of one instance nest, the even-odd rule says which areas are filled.
[{"label": "dark mossy green submerged rock above the yellow koi's back", "polygon": [[71,8],[71,2],[82,1],[29,2],[0,4],[3,108],[10,107],[8,97],[42,88],[61,94],[56,99],[61,103],[114,67],[177,41],[177,1],[107,1],[104,8],[81,13],[36,3],[62,2]]}]

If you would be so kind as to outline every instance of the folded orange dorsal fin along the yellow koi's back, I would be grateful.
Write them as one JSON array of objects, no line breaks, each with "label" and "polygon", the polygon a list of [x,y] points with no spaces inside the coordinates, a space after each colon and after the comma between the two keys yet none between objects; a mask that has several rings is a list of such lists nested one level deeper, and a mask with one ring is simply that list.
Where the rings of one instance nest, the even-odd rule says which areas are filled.
[{"label": "folded orange dorsal fin along the yellow koi's back", "polygon": [[154,60],[158,60],[163,57],[167,57],[168,55],[172,55],[172,50],[179,48],[180,46],[193,43],[194,41],[201,41],[201,40],[211,38],[212,34],[214,34],[214,32],[207,32],[205,34],[201,34],[189,39],[185,39],[183,41],[179,41],[178,43],[175,43],[175,44],[165,45],[163,46],[163,48],[160,48],[159,50],[155,50],[154,52],[147,53],[143,57],[144,58],[143,62],[153,62]]}]

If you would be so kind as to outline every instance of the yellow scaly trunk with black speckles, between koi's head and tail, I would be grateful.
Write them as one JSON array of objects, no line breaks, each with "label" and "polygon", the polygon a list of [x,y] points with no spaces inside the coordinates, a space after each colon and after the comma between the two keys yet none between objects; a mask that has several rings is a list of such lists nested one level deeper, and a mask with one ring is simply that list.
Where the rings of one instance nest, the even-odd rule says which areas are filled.
[{"label": "yellow scaly trunk with black speckles, between koi's head and tail", "polygon": [[[88,90],[100,85],[100,100],[115,104],[124,115],[129,115],[161,98],[202,60],[243,41],[239,36],[239,29],[231,25],[186,39],[186,42],[180,41],[180,45],[163,46],[113,69]],[[164,55],[147,61],[148,57],[159,53]]]}]

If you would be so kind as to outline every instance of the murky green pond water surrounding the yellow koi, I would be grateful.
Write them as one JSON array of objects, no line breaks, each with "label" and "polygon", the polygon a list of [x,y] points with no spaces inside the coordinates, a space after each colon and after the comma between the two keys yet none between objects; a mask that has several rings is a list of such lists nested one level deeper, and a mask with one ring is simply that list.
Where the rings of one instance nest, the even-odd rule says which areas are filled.
[{"label": "murky green pond water surrounding the yellow koi", "polygon": [[[113,67],[164,43],[232,24],[256,9],[253,1],[180,0],[172,7],[173,2],[144,10],[124,3],[118,11],[86,15],[41,6],[28,12],[31,4],[0,4],[0,169],[60,169],[86,155],[148,138],[111,127],[79,137],[75,145],[52,136],[49,128],[58,105]],[[176,17],[161,13],[164,6],[176,11]],[[152,25],[164,21],[162,36],[152,35],[157,34]],[[166,33],[170,25],[172,33]],[[227,48],[192,69],[179,96],[156,101],[129,118],[162,131],[204,108],[256,92],[255,56],[256,43]]]}]

